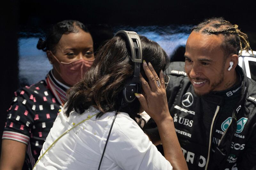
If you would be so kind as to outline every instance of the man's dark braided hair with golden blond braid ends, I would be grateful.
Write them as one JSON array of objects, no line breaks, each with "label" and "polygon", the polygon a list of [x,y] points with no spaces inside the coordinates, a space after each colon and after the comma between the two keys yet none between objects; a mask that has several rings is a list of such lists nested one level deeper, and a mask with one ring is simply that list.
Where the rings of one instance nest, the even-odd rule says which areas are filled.
[{"label": "man's dark braided hair with golden blond braid ends", "polygon": [[221,48],[227,57],[230,54],[241,55],[243,50],[246,50],[247,52],[249,50],[252,51],[247,34],[241,32],[238,29],[238,25],[232,25],[224,18],[205,19],[203,22],[192,28],[191,32],[192,31],[205,34],[223,35],[224,40],[221,44]]}]

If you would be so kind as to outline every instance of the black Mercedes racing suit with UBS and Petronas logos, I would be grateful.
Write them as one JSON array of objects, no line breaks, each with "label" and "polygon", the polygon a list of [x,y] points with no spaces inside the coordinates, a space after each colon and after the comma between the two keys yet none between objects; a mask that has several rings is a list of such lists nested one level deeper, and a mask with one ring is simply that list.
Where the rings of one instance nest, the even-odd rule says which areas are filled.
[{"label": "black Mercedes racing suit with UBS and Petronas logos", "polygon": [[[237,66],[236,72],[240,87],[227,95],[239,89],[238,98],[227,115],[221,112],[224,106],[216,94],[195,94],[184,62],[173,62],[164,71],[170,77],[168,106],[190,170],[247,170],[256,165],[256,82],[247,78],[241,67]],[[209,123],[204,115],[209,115]]]}]

